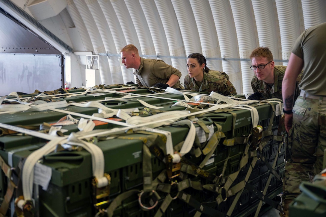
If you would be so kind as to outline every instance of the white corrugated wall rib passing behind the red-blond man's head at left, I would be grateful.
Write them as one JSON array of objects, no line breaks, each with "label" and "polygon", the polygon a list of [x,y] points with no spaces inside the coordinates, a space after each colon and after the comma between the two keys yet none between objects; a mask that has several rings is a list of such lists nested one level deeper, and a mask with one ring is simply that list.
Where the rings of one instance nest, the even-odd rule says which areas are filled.
[{"label": "white corrugated wall rib passing behind the red-blond man's head at left", "polygon": [[[126,13],[128,10],[124,1],[110,0],[115,14],[119,20],[119,24],[122,28],[123,35],[126,39],[126,44],[133,44],[138,48],[139,54],[141,54],[141,47],[137,37],[135,27],[132,23],[132,20],[129,16],[129,13]],[[125,44],[125,45],[126,45]],[[123,45],[123,46],[125,46]],[[122,48],[122,47],[121,47]],[[126,83],[128,81],[135,80],[134,75],[132,74],[132,69],[127,69],[122,71],[123,81]]]}]

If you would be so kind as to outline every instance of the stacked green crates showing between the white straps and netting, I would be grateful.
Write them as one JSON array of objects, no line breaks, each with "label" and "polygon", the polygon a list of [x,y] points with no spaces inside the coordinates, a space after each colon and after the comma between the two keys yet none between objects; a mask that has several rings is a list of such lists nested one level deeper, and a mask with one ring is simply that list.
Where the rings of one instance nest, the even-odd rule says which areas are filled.
[{"label": "stacked green crates showing between the white straps and netting", "polygon": [[[119,88],[121,86],[106,87]],[[105,97],[116,98],[110,101],[101,102],[104,106],[113,109],[124,108],[138,108],[141,116],[151,115],[150,113],[143,112],[144,106],[135,99],[140,99],[154,106],[163,107],[159,112],[173,111],[173,110],[185,110],[181,106],[172,106],[178,100],[184,100],[183,95],[165,93],[156,95],[158,97],[148,97],[147,95],[153,95],[151,90],[146,88],[130,89],[130,93],[139,94],[139,96],[132,98],[130,101],[120,101],[118,98],[121,95],[116,93],[104,92],[101,95],[92,95],[92,93],[84,95],[75,95],[73,97],[62,96],[55,100],[66,100],[68,102],[87,102],[87,101],[101,101]],[[82,90],[70,90],[70,92],[81,93]],[[128,92],[128,91],[125,91]],[[63,93],[64,94],[64,93]],[[146,95],[146,96],[141,96]],[[27,95],[23,97],[28,97]],[[53,99],[54,100],[54,99]],[[193,104],[189,104],[194,107]],[[259,125],[263,127],[263,131],[267,131],[271,117],[273,116],[274,108],[277,103],[256,103],[254,106],[259,113]],[[274,108],[273,108],[274,107]],[[82,108],[71,105],[67,108],[59,108],[68,110],[71,112],[81,113],[84,115],[92,115],[98,113],[97,108]],[[155,109],[153,109],[155,110]],[[147,111],[147,110],[146,110]],[[143,113],[141,113],[143,112]],[[235,114],[235,115],[234,115]],[[0,114],[1,123],[9,125],[24,125],[24,126],[39,126],[44,122],[52,124],[56,123],[60,118],[67,114],[58,111],[38,111],[38,112],[12,112]],[[73,116],[79,119],[78,116]],[[233,120],[236,117],[236,120]],[[276,135],[278,128],[278,121],[280,115],[275,116],[272,124],[272,131]],[[214,126],[214,131],[217,130],[217,125],[222,127],[222,132],[225,138],[221,139],[216,149],[214,150],[211,158],[203,166],[203,170],[213,174],[214,176],[220,176],[224,171],[223,180],[226,181],[228,176],[234,174],[239,170],[239,164],[244,156],[247,143],[235,144],[227,146],[223,144],[225,139],[232,139],[233,137],[248,137],[252,133],[251,114],[246,109],[235,109],[231,112],[224,110],[218,112],[203,113],[198,117],[201,123],[206,126]],[[121,120],[122,121],[122,120]],[[233,123],[236,123],[233,126]],[[117,127],[111,123],[96,125],[96,129],[110,129]],[[196,127],[200,127],[195,122]],[[118,126],[121,127],[121,126]],[[71,132],[78,132],[76,125],[63,126],[65,129],[64,134],[69,135]],[[177,126],[173,124],[163,125],[159,127],[160,130],[169,131],[172,136],[173,146],[183,142],[189,132],[187,126]],[[121,136],[121,135],[120,135]],[[128,133],[126,137],[147,137],[146,134]],[[32,135],[24,135],[21,133],[3,135],[0,136],[0,156],[7,162],[7,164],[16,167],[22,159],[25,159],[30,153],[34,152],[38,148],[44,146],[48,141],[42,138],[38,138]],[[143,165],[142,165],[142,146],[143,142],[138,139],[124,139],[115,137],[109,140],[98,138],[96,145],[104,153],[105,159],[105,172],[111,176],[110,184],[110,203],[119,195],[129,190],[142,190],[143,189]],[[203,145],[203,144],[201,144]],[[258,152],[258,159],[254,165],[251,175],[248,179],[248,183],[252,185],[257,191],[263,191],[266,186],[267,180],[271,171],[260,160],[259,155],[264,156],[265,162],[268,162],[271,166],[275,162],[273,168],[280,176],[284,174],[284,157],[286,144],[281,146],[279,150],[280,141],[273,140],[273,137],[267,142],[263,151]],[[250,147],[253,151],[256,148]],[[276,158],[276,156],[278,156]],[[205,156],[195,156],[194,152],[189,152],[185,156],[189,162],[199,166]],[[236,180],[233,181],[232,186],[244,180],[248,169],[250,168],[252,158],[249,159],[246,166],[240,171]],[[92,160],[91,155],[85,150],[81,151],[58,151],[52,152],[44,156],[41,164],[52,168],[52,177],[48,189],[45,191],[38,186],[38,195],[34,195],[36,212],[38,216],[60,216],[60,217],[79,217],[79,216],[94,216],[97,213],[92,204]],[[164,162],[152,155],[151,158],[153,179],[155,179],[165,168]],[[213,184],[211,181],[192,174],[184,174],[191,181],[200,182],[201,185]],[[223,181],[221,183],[224,183]],[[4,198],[7,190],[7,177],[1,172],[0,177],[0,196]],[[268,186],[266,196],[275,197],[281,192],[282,182],[277,180],[275,176]],[[184,190],[187,194],[191,195],[200,204],[205,207],[210,207],[214,210],[218,210],[221,213],[226,214],[235,199],[235,195],[227,198],[220,204],[216,203],[217,192],[203,190],[195,190],[188,188]],[[36,191],[37,192],[37,191]],[[37,193],[36,193],[37,194]],[[138,195],[132,195],[122,201],[121,205],[114,210],[114,216],[136,217],[136,216],[154,216],[156,211],[162,204],[166,194],[159,193],[161,199],[158,201],[158,205],[148,211],[141,209],[138,202]],[[164,216],[193,216],[197,211],[193,206],[185,203],[183,200],[177,198],[176,201],[170,203],[167,210],[164,212]],[[107,204],[107,206],[110,205]],[[252,212],[256,211],[259,203],[259,197],[253,192],[244,189],[241,196],[238,199],[235,208],[232,211],[231,216],[249,216]],[[105,207],[106,208],[106,207]],[[8,210],[9,213],[13,213],[14,210]]]}]

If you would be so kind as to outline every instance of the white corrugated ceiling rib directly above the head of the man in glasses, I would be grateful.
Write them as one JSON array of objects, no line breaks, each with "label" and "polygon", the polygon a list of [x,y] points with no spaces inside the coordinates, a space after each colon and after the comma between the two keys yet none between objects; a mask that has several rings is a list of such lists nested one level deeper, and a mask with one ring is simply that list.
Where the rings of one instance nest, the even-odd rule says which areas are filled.
[{"label": "white corrugated ceiling rib directly above the head of the man in glasses", "polygon": [[265,0],[252,0],[251,2],[256,19],[259,47],[268,47],[274,59],[278,59],[278,45],[274,40],[277,38],[277,31],[275,31],[275,23],[271,22],[275,20],[274,10],[271,10],[273,3]]}]

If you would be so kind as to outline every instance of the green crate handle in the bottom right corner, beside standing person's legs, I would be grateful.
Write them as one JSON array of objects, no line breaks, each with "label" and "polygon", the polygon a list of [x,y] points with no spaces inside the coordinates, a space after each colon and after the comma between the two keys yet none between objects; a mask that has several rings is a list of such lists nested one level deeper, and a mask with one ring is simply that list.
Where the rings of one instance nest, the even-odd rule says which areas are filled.
[{"label": "green crate handle in the bottom right corner, beside standing person's legs", "polygon": [[[324,195],[326,195],[326,186],[316,185],[316,184],[304,181],[300,184],[299,188],[302,191],[302,193],[308,195],[315,201],[326,204],[326,200],[323,198]],[[316,194],[315,192],[318,192],[319,194]]]}]

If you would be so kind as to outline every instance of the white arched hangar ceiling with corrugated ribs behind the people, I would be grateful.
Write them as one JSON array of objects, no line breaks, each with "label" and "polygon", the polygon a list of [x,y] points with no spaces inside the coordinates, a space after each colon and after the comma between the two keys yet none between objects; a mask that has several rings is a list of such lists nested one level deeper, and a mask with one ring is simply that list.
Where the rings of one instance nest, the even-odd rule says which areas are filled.
[{"label": "white arched hangar ceiling with corrugated ribs behind the people", "polygon": [[287,65],[300,33],[326,22],[324,0],[0,0],[0,7],[11,8],[8,2],[55,35],[42,33],[59,51],[74,55],[57,39],[75,53],[99,54],[103,84],[133,80],[119,51],[134,44],[141,55],[178,68],[182,83],[185,57],[202,53],[209,68],[230,76],[238,93],[252,92],[253,49],[268,47],[276,64]]}]

